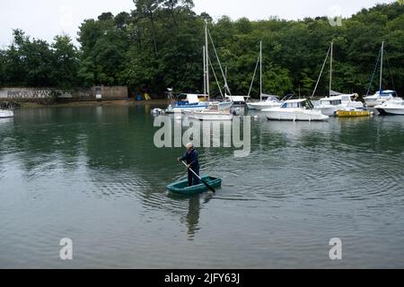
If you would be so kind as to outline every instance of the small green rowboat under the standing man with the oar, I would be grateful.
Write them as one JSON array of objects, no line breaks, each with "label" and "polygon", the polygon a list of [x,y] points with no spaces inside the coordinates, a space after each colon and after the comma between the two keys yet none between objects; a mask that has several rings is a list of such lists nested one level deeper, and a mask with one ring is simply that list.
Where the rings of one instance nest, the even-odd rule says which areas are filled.
[{"label": "small green rowboat under the standing man with the oar", "polygon": [[[222,185],[221,178],[205,176],[202,177],[202,180],[206,181],[206,183],[211,187],[220,187]],[[167,186],[167,189],[171,193],[181,196],[198,195],[208,190],[206,185],[204,185],[202,182],[198,186],[189,187],[188,178],[180,178],[179,181],[171,183],[171,185]]]}]

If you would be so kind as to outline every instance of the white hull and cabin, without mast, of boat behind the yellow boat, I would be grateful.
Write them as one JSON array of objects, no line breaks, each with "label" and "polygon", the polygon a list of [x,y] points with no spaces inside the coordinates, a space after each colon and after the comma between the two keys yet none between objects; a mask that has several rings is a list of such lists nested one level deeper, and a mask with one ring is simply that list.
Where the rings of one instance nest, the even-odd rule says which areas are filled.
[{"label": "white hull and cabin, without mast, of boat behind the yellow boat", "polygon": [[354,108],[364,109],[364,103],[355,101],[359,96],[357,94],[340,94],[320,100],[319,105],[314,106],[314,110],[320,110],[321,114],[329,117],[337,117],[338,109]]}]

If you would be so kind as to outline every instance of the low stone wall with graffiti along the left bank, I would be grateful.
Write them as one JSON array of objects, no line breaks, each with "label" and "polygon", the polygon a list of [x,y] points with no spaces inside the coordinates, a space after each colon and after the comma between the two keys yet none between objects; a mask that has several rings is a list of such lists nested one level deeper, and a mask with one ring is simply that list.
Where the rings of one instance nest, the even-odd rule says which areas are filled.
[{"label": "low stone wall with graffiti along the left bank", "polygon": [[[52,91],[59,93],[60,100],[96,100],[96,87],[75,88],[73,91],[58,91],[52,88],[1,88],[0,100],[40,101],[52,98]],[[126,100],[126,86],[101,86],[102,100]]]}]

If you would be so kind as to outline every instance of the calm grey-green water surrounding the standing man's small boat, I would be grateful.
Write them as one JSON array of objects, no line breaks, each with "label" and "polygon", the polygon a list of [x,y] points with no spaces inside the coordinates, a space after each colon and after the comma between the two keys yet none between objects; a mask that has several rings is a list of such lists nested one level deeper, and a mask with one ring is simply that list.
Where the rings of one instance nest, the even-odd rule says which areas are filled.
[{"label": "calm grey-green water surrounding the standing man's small boat", "polygon": [[151,108],[0,121],[0,268],[404,267],[404,117],[253,121],[248,158],[199,149],[216,195],[176,197],[182,149],[154,147]]}]

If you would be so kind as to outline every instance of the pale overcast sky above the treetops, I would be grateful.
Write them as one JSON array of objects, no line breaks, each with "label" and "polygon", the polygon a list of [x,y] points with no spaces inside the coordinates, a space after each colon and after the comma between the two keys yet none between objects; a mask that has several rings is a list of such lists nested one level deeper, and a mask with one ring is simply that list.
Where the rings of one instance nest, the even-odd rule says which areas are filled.
[{"label": "pale overcast sky above the treetops", "polygon": [[[207,12],[214,19],[228,15],[234,20],[272,15],[294,20],[335,13],[347,17],[362,8],[391,2],[394,0],[194,0],[197,13]],[[84,19],[103,12],[129,12],[134,6],[132,0],[0,0],[0,48],[11,43],[13,29],[48,41],[61,33],[75,39]]]}]

